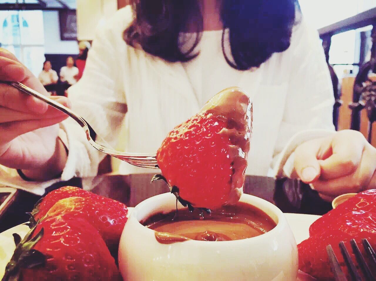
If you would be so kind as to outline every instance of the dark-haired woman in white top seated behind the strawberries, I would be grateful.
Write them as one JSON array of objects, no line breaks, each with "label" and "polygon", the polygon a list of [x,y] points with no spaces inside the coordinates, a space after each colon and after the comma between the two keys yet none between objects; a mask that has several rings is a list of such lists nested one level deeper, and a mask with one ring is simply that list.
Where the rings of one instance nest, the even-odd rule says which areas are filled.
[{"label": "dark-haired woman in white top seated behind the strawberries", "polygon": [[[111,145],[123,124],[124,150],[156,151],[174,125],[235,85],[254,104],[247,174],[267,175],[272,166],[277,177],[300,177],[327,196],[376,185],[376,149],[359,132],[334,132],[323,50],[293,0],[139,0],[133,7],[98,30],[85,74],[69,89],[72,108]],[[0,79],[45,93],[5,50],[0,66]],[[5,85],[0,105],[2,165],[34,181],[96,174],[103,155],[74,121]],[[24,185],[9,168],[0,178]],[[125,162],[120,170],[148,172]],[[43,193],[49,184],[28,189]]]}]

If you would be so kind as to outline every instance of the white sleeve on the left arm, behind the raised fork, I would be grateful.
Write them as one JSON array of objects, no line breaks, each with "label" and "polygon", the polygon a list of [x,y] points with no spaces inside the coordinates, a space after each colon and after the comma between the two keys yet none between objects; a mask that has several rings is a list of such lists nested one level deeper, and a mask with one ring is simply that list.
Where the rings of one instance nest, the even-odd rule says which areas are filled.
[{"label": "white sleeve on the left arm, behind the raised fork", "polygon": [[[122,32],[132,20],[130,6],[121,9],[109,24],[99,27],[88,53],[85,72],[75,85],[68,89],[72,109],[80,114],[112,147],[127,110],[125,93],[119,85],[117,48],[124,48]],[[124,44],[119,46],[119,44]],[[121,75],[124,75],[122,73]],[[71,177],[95,176],[99,163],[105,157],[93,148],[82,128],[72,119],[63,122],[69,150],[62,180]]]}]

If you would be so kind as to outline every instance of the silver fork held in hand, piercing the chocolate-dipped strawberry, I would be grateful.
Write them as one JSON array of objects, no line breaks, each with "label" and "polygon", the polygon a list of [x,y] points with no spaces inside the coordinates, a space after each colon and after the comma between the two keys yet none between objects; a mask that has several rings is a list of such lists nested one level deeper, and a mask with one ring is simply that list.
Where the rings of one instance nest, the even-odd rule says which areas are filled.
[{"label": "silver fork held in hand, piercing the chocolate-dipped strawberry", "polygon": [[26,94],[32,95],[33,97],[38,98],[39,100],[44,101],[45,103],[49,104],[52,107],[55,107],[56,109],[64,112],[68,116],[74,119],[85,131],[86,137],[89,141],[89,143],[96,148],[97,150],[106,153],[108,155],[111,155],[113,157],[116,157],[118,159],[121,159],[125,162],[128,162],[129,164],[132,164],[134,166],[142,167],[142,168],[153,168],[158,169],[158,163],[155,158],[155,154],[153,153],[128,153],[128,152],[121,152],[116,151],[114,148],[109,145],[105,139],[100,137],[90,126],[88,122],[85,121],[81,116],[74,113],[69,108],[63,106],[62,104],[45,97],[42,94],[39,94],[37,91],[27,87],[26,85],[23,85],[19,82],[9,82],[9,81],[1,81],[1,83],[5,83],[7,85],[13,86],[17,88],[18,90],[25,92]]}]

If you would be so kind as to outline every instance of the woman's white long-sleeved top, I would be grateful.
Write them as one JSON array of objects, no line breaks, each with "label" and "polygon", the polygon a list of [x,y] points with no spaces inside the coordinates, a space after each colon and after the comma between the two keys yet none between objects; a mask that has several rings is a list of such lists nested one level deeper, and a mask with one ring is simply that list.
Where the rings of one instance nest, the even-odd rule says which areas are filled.
[{"label": "woman's white long-sleeved top", "polygon": [[[112,146],[119,147],[120,131],[125,130],[126,139],[120,145],[124,151],[155,152],[175,125],[199,112],[208,97],[228,86],[243,88],[253,101],[247,174],[288,176],[293,160],[290,156],[297,145],[333,133],[334,96],[329,71],[318,33],[304,20],[294,27],[290,48],[273,54],[253,71],[230,68],[220,52],[217,57],[202,56],[189,63],[165,62],[124,42],[123,32],[131,21],[132,9],[127,6],[99,28],[85,73],[68,90],[73,110]],[[205,41],[204,36],[199,47],[204,50],[213,42]],[[212,74],[208,74],[208,64],[212,65]],[[61,128],[69,148],[62,180],[96,175],[104,155],[89,145],[73,120],[62,122]],[[120,171],[158,170],[122,162]],[[37,194],[54,182],[26,183],[17,172],[4,167],[0,181]]]}]

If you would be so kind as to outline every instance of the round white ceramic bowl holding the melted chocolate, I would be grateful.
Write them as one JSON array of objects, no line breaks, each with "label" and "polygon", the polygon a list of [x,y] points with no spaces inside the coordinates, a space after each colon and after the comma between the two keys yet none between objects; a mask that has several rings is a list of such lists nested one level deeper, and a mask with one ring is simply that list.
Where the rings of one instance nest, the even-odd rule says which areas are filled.
[{"label": "round white ceramic bowl holding the melted chocolate", "polygon": [[264,199],[243,194],[240,201],[267,213],[277,226],[243,240],[188,240],[161,244],[155,231],[139,223],[175,208],[175,196],[164,193],[138,204],[120,239],[119,268],[124,281],[296,281],[297,246],[284,214]]}]

